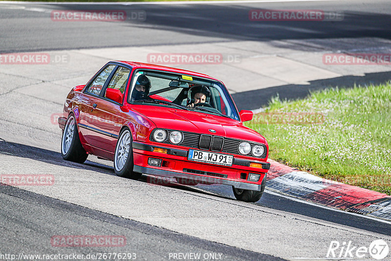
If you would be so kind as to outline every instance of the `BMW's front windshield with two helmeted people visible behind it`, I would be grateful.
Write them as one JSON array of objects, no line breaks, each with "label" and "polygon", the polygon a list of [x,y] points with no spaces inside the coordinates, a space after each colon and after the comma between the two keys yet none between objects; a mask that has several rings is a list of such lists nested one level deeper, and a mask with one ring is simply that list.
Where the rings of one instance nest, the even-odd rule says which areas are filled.
[{"label": "BMW's front windshield with two helmeted people visible behind it", "polygon": [[131,86],[132,104],[148,104],[239,120],[227,89],[219,82],[170,72],[138,70]]}]

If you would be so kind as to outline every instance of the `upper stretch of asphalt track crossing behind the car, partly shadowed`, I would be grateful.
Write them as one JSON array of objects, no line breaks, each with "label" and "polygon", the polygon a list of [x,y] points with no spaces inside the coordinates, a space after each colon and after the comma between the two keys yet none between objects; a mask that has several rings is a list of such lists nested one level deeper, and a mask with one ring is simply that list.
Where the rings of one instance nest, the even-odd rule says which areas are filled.
[{"label": "upper stretch of asphalt track crossing behind the car, partly shadowed", "polygon": [[[338,37],[391,39],[388,0],[261,2],[242,4],[15,5],[1,4],[0,52],[114,46]],[[22,8],[22,7],[21,7]],[[316,9],[342,12],[343,21],[254,22],[252,9]],[[146,20],[53,22],[52,10],[145,11]],[[128,15],[130,16],[130,15]]]}]

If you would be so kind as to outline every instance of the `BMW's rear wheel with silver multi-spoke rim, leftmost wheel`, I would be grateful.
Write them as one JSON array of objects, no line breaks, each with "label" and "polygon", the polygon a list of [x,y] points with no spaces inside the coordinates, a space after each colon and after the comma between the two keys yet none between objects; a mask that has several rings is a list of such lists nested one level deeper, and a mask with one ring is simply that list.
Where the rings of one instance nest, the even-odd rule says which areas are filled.
[{"label": "BMW's rear wheel with silver multi-spoke rim, leftmost wheel", "polygon": [[69,115],[65,122],[63,137],[61,139],[61,155],[65,160],[84,163],[88,157],[80,142],[79,131],[77,129],[76,118]]}]

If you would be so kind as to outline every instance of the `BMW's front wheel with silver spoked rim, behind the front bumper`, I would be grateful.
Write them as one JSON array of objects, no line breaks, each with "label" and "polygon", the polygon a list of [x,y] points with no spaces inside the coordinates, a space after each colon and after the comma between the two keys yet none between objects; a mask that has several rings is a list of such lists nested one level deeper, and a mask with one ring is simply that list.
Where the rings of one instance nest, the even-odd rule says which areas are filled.
[{"label": "BMW's front wheel with silver spoked rim, behind the front bumper", "polygon": [[121,131],[115,146],[114,171],[117,176],[139,179],[141,173],[133,172],[133,150],[131,133],[128,128]]}]

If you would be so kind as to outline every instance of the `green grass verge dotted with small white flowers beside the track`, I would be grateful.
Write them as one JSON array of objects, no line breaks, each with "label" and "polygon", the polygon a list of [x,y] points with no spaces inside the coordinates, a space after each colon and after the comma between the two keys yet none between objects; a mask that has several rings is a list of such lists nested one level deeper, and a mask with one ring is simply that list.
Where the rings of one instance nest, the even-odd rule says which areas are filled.
[{"label": "green grass verge dotted with small white flowers beside the track", "polygon": [[[296,120],[289,120],[300,114],[306,118],[306,113],[323,114],[324,118],[310,124],[292,124]],[[260,119],[272,119],[265,115],[280,114],[285,115],[285,123],[260,123]],[[391,195],[390,82],[330,88],[295,101],[276,97],[265,113],[255,114],[246,125],[266,138],[269,157],[274,160],[326,179]]]}]

